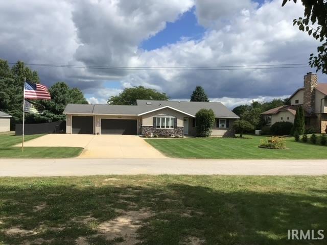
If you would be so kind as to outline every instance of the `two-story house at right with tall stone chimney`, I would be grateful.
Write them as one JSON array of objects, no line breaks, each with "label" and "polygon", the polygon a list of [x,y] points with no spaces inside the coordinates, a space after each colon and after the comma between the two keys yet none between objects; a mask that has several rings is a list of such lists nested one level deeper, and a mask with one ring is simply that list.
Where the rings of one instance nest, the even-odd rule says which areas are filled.
[{"label": "two-story house at right with tall stone chimney", "polygon": [[327,126],[326,95],[327,83],[318,83],[317,74],[309,72],[304,76],[303,87],[290,96],[290,106],[280,106],[262,113],[266,125],[271,126],[277,121],[293,123],[296,109],[302,106],[306,128],[313,127],[317,132],[324,133]]}]

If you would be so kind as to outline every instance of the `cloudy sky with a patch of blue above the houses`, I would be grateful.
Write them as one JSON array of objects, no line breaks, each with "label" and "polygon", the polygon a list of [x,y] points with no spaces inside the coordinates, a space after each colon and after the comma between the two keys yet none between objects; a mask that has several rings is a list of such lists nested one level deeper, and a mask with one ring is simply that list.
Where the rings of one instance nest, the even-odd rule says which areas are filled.
[{"label": "cloudy sky with a patch of blue above the houses", "polygon": [[[300,4],[282,0],[11,0],[0,2],[0,59],[110,67],[307,63],[317,42],[293,27]],[[308,67],[125,70],[31,66],[41,83],[65,81],[90,103],[143,85],[189,99],[201,85],[229,108],[285,97]],[[319,74],[320,82],[324,81]]]}]

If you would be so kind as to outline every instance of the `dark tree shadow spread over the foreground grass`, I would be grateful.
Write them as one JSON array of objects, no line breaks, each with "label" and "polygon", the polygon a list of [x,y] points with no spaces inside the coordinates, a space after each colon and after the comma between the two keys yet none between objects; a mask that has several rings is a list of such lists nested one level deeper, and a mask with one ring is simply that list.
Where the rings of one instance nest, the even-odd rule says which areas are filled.
[{"label": "dark tree shadow spread over the foreground grass", "polygon": [[[190,244],[188,237],[204,244],[323,244],[286,240],[288,229],[326,229],[327,197],[317,195],[221,192],[186,184],[96,187],[85,182],[77,187],[38,181],[20,187],[2,185],[0,244],[76,244],[81,236],[88,241],[81,244],[125,244],[124,231],[109,229],[122,235],[106,240],[108,234],[100,234],[97,228],[122,215],[118,209],[144,208],[152,216],[130,224],[141,226],[138,244]],[[30,232],[8,232],[13,228]]]}]

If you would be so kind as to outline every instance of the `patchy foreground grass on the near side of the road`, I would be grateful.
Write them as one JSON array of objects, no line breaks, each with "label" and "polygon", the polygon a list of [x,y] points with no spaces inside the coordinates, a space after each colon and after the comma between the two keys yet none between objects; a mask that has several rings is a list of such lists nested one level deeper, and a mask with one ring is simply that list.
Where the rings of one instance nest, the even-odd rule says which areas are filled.
[{"label": "patchy foreground grass on the near side of the road", "polygon": [[327,176],[0,178],[0,244],[326,244],[287,240],[288,229],[326,230],[326,186]]}]

